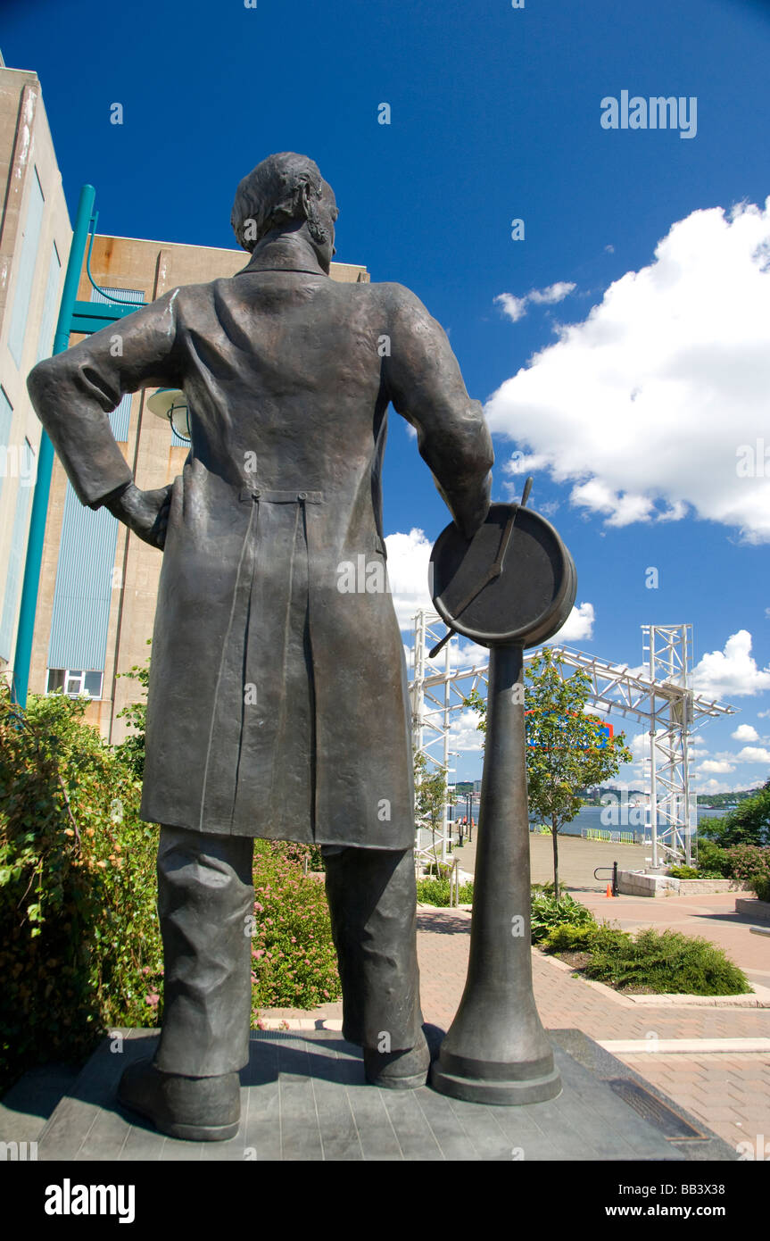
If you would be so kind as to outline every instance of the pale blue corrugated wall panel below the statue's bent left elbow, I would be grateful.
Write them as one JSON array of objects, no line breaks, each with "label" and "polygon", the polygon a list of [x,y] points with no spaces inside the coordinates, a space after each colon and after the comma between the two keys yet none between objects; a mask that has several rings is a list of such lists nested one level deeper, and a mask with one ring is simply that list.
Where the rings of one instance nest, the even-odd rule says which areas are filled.
[{"label": "pale blue corrugated wall panel below the statue's bent left elbow", "polygon": [[108,509],[81,504],[67,484],[48,668],[103,671],[118,522]]}]

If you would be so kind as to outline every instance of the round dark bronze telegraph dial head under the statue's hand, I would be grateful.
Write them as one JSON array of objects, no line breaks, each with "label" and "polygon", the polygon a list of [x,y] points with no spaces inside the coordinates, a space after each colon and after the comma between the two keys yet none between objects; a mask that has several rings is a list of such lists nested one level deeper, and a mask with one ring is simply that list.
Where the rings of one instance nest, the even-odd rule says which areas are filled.
[{"label": "round dark bronze telegraph dial head under the statue's hand", "polygon": [[549,521],[518,504],[492,504],[470,542],[454,521],[430,556],[430,594],[441,619],[482,647],[536,647],[569,616],[578,582]]}]

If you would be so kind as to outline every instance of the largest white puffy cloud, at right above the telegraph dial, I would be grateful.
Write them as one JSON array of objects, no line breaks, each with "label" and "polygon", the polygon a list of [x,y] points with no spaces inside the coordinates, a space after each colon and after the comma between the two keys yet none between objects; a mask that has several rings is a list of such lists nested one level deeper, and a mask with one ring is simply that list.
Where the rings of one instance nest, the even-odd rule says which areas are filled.
[{"label": "largest white puffy cloud, at right above the telegraph dial", "polygon": [[[508,298],[497,299],[503,313],[521,318],[527,298]],[[611,284],[585,321],[562,326],[486,416],[610,525],[694,513],[766,542],[758,441],[768,438],[769,390],[770,199],[675,223],[650,266]]]}]

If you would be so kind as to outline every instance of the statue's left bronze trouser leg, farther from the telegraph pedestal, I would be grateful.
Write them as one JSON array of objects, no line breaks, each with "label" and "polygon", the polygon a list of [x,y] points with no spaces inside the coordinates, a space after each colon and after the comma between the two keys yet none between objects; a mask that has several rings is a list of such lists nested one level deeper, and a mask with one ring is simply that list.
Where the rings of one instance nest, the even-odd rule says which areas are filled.
[{"label": "statue's left bronze trouser leg, farther from the telegraph pedestal", "polygon": [[164,1072],[217,1077],[248,1064],[253,849],[244,836],[160,829],[165,974],[155,1064]]}]

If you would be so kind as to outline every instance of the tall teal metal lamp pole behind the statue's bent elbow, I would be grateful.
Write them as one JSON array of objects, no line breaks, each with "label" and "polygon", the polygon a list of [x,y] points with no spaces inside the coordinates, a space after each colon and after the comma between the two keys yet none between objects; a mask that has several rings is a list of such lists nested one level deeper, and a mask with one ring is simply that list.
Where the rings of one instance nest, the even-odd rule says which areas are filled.
[{"label": "tall teal metal lamp pole behind the statue's bent elbow", "polygon": [[[67,274],[64,276],[64,288],[58,309],[58,321],[53,338],[53,352],[63,354],[69,345],[69,333],[72,330],[72,314],[78,295],[81,283],[81,269],[88,241],[88,228],[93,215],[93,205],[97,191],[93,185],[84,185],[81,190],[78,213],[72,233],[72,246],[69,247],[69,259],[67,262]],[[14,658],[12,694],[19,706],[26,706],[27,690],[30,685],[30,663],[32,659],[32,637],[35,633],[35,613],[37,611],[37,588],[40,586],[40,571],[42,567],[43,544],[46,539],[46,517],[48,515],[48,494],[51,491],[51,474],[53,472],[53,444],[43,429],[40,438],[40,452],[37,454],[37,479],[35,483],[35,496],[32,499],[32,516],[30,519],[30,537],[27,541],[27,557],[24,567],[24,586],[21,587],[21,608],[19,612],[19,633],[16,635],[16,654]]]}]

